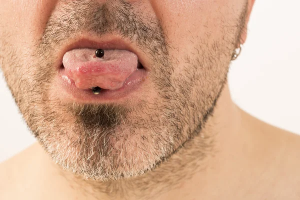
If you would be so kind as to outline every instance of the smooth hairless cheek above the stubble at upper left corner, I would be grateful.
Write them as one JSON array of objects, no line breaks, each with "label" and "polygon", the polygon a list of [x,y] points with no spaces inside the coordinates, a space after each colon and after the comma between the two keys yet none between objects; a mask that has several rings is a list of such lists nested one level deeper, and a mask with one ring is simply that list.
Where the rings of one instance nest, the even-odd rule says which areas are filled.
[{"label": "smooth hairless cheek above the stubble at upper left corner", "polygon": [[56,0],[0,0],[0,35],[23,55],[42,34]]}]

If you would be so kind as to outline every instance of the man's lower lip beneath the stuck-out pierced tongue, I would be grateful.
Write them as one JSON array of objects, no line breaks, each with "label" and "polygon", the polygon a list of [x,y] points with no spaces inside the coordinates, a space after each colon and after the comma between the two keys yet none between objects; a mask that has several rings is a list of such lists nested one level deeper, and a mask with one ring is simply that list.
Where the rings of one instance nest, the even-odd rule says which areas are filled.
[{"label": "man's lower lip beneath the stuck-out pierced tongue", "polygon": [[123,86],[116,90],[101,89],[99,94],[94,94],[92,89],[78,89],[70,79],[63,67],[60,68],[55,90],[59,89],[65,100],[92,102],[92,101],[114,101],[128,98],[134,91],[140,89],[141,84],[147,79],[148,72],[144,68],[137,68],[124,82]]}]

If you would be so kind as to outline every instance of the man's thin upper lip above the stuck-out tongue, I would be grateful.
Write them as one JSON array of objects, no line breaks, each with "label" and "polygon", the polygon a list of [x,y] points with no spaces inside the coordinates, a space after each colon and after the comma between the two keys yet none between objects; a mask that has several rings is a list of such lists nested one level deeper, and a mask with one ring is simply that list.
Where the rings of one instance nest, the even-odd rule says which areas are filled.
[{"label": "man's thin upper lip above the stuck-out tongue", "polygon": [[137,47],[129,39],[124,39],[118,35],[102,35],[101,37],[93,35],[80,35],[80,37],[75,37],[67,40],[67,43],[62,45],[62,48],[58,51],[58,66],[62,65],[63,55],[75,48],[101,48],[101,49],[121,49],[129,50],[137,55],[138,61],[142,64],[145,70],[148,70],[146,66],[146,56],[144,52]]}]

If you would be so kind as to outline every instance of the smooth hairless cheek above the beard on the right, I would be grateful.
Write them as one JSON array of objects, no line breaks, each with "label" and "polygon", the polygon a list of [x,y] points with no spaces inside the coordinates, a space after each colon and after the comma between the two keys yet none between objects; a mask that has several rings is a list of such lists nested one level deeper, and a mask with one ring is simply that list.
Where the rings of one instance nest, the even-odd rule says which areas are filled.
[{"label": "smooth hairless cheek above the beard on the right", "polygon": [[175,57],[197,53],[196,43],[223,39],[226,24],[236,24],[243,9],[240,0],[152,0],[151,5]]}]

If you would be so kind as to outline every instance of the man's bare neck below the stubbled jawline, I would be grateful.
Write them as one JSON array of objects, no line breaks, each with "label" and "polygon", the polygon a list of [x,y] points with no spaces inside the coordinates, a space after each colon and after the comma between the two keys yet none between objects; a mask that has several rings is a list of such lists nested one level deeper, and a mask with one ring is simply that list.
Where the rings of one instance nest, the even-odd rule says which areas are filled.
[{"label": "man's bare neck below the stubbled jawline", "polygon": [[[204,129],[184,143],[175,154],[159,167],[144,175],[117,181],[84,180],[60,169],[41,147],[42,166],[37,169],[46,176],[47,189],[61,190],[65,195],[84,196],[84,199],[189,199],[216,195],[218,188],[238,184],[242,159],[239,149],[248,140],[241,129],[242,112],[232,102],[228,86],[224,87]],[[54,174],[51,171],[54,170]],[[236,170],[234,173],[229,171]],[[58,173],[57,173],[58,171]],[[240,171],[240,172],[239,172]],[[35,171],[36,173],[36,171]],[[56,175],[57,174],[57,175]],[[236,177],[227,177],[234,174]],[[228,178],[232,181],[228,182]],[[50,180],[50,181],[49,181]],[[59,182],[59,184],[56,184]],[[60,185],[57,188],[57,185]],[[179,188],[179,189],[178,189]],[[60,195],[61,192],[53,192]],[[68,196],[69,199],[72,199]],[[60,196],[59,196],[60,197]],[[55,199],[59,199],[55,197]]]}]

